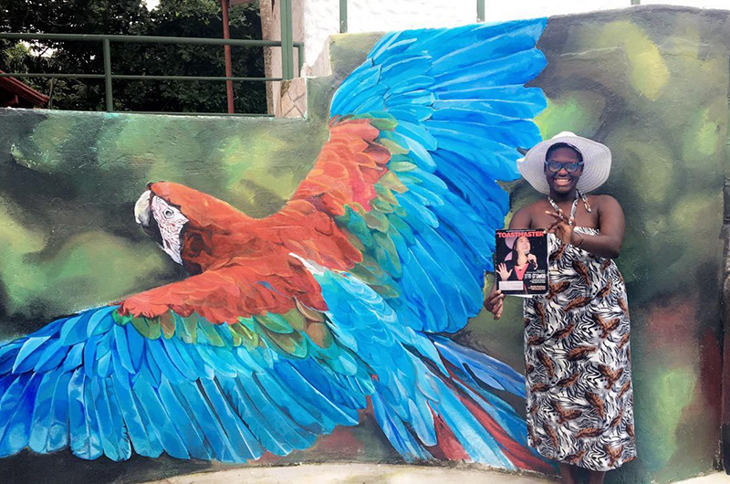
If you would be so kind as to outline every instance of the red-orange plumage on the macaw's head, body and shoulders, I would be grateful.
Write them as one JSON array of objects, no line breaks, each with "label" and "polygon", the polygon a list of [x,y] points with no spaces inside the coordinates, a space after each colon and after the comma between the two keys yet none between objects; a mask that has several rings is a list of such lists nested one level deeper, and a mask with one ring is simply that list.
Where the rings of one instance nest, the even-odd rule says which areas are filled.
[{"label": "red-orange plumage on the macaw's head, body and shoulders", "polygon": [[298,258],[337,270],[362,261],[333,216],[344,214],[345,205],[370,210],[374,184],[388,172],[391,157],[375,142],[379,135],[370,120],[335,122],[297,193],[262,219],[181,184],[150,184],[153,195],[188,218],[181,255],[197,275],[132,296],[121,303],[120,313],[152,318],[167,310],[183,316],[196,312],[222,323],[267,311],[283,314],[297,300],[327,310],[317,281]]}]

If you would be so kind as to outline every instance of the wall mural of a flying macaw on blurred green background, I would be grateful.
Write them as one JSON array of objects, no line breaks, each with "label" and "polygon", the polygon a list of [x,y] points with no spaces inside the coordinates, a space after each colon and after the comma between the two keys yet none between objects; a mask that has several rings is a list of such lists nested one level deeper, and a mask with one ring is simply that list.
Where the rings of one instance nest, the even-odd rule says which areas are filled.
[{"label": "wall mural of a flying macaw on blurred green background", "polygon": [[610,146],[626,210],[639,458],[607,481],[711,470],[729,22],[649,7],[339,36],[307,121],[0,112],[4,478],[548,472],[520,304],[476,314],[491,231],[535,196],[516,149],[562,131]]}]

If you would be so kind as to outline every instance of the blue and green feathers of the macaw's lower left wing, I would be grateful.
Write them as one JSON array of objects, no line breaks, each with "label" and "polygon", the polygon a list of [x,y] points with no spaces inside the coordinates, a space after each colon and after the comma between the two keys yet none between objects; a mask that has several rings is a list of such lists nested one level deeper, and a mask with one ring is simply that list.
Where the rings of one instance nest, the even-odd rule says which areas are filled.
[{"label": "blue and green feathers of the macaw's lower left wing", "polygon": [[133,449],[243,462],[356,425],[367,366],[327,315],[295,304],[230,324],[112,306],[0,345],[0,457],[70,447],[89,459]]}]

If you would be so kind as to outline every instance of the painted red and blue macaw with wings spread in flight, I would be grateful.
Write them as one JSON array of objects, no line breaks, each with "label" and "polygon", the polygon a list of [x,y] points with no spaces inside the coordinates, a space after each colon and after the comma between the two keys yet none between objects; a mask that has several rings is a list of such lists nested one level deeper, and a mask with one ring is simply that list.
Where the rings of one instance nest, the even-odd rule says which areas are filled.
[{"label": "painted red and blue macaw with wings spread in flight", "polygon": [[190,277],[0,344],[0,457],[244,462],[369,409],[407,461],[550,472],[497,396],[524,397],[523,376],[448,337],[481,309],[509,207],[497,181],[541,141],[546,98],[525,85],[545,24],[382,37],[274,215],[141,188],[135,221]]}]

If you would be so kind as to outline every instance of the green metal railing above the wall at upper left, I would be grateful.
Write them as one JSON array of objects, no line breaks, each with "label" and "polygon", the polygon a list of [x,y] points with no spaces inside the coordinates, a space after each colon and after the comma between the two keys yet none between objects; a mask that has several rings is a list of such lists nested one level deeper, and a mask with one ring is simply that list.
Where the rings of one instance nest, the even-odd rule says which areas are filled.
[{"label": "green metal railing above the wall at upper left", "polygon": [[[153,36],[118,36],[103,34],[17,34],[0,32],[0,39],[8,40],[48,40],[53,42],[101,42],[104,60],[104,73],[82,74],[82,73],[44,73],[44,72],[0,72],[0,78],[46,78],[46,79],[104,79],[104,99],[106,110],[114,112],[114,95],[112,81],[115,79],[124,80],[201,80],[211,82],[266,82],[277,80],[294,79],[294,49],[297,48],[298,72],[301,74],[304,65],[304,43],[292,40],[291,29],[291,0],[281,2],[282,18],[281,31],[282,39],[279,40],[239,40],[224,38],[203,38],[203,37],[153,37]],[[198,46],[232,46],[232,47],[281,47],[281,71],[280,78],[242,78],[226,76],[154,76],[154,75],[131,75],[114,74],[111,65],[111,43],[141,43],[141,44],[187,44]],[[160,111],[125,111],[145,112],[148,114],[207,114],[216,116],[231,115],[224,112],[160,112]],[[234,116],[271,116],[269,114],[235,113]]]}]

